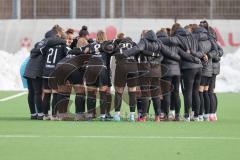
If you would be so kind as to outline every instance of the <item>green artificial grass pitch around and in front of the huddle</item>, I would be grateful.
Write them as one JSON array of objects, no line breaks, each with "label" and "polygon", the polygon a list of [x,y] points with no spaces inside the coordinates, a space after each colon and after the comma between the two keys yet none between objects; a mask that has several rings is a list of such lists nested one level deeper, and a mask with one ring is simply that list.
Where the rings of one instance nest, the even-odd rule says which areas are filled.
[{"label": "green artificial grass pitch around and in front of the huddle", "polygon": [[26,97],[0,102],[0,160],[240,159],[240,94],[218,94],[213,123],[31,121]]}]

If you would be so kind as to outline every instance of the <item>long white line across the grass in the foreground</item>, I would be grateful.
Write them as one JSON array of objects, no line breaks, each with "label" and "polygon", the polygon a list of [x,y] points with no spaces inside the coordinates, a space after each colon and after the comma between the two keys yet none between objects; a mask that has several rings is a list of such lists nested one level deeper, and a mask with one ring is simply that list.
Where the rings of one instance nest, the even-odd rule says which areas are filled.
[{"label": "long white line across the grass in the foreground", "polygon": [[61,136],[61,135],[0,135],[2,138],[77,138],[77,139],[139,139],[139,140],[232,140],[240,137],[171,137],[171,136]]}]

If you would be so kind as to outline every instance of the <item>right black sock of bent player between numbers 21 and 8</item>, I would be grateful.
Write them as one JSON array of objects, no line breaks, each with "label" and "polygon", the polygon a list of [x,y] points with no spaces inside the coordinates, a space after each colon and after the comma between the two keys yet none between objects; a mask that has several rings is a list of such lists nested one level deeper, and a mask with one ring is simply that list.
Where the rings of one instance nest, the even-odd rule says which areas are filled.
[{"label": "right black sock of bent player between numbers 21 and 8", "polygon": [[77,93],[75,96],[75,113],[85,112],[85,93]]}]

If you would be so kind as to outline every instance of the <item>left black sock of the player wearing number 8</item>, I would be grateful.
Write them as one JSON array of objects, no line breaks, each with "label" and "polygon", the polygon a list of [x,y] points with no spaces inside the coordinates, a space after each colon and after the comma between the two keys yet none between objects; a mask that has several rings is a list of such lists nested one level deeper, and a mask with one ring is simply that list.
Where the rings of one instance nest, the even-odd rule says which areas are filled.
[{"label": "left black sock of the player wearing number 8", "polygon": [[93,117],[96,115],[96,93],[95,93],[95,91],[88,91],[87,109],[88,109],[88,113],[92,114]]}]

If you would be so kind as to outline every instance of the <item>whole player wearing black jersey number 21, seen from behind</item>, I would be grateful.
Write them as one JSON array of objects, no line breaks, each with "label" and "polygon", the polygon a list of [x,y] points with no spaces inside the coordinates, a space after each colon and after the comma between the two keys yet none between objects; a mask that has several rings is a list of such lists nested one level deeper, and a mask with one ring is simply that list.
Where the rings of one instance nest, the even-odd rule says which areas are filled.
[{"label": "whole player wearing black jersey number 21, seen from behind", "polygon": [[48,39],[45,46],[40,50],[42,55],[45,57],[44,67],[43,67],[43,111],[45,114],[45,119],[49,119],[48,111],[50,109],[50,101],[52,97],[52,117],[56,116],[56,104],[57,104],[57,83],[54,75],[54,69],[57,63],[67,56],[70,48],[67,47],[65,41],[66,35],[62,28],[58,29],[55,37]]}]

